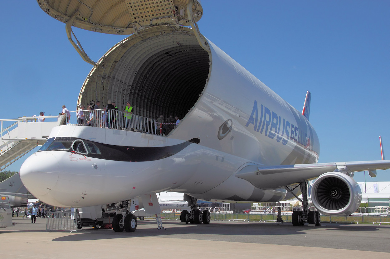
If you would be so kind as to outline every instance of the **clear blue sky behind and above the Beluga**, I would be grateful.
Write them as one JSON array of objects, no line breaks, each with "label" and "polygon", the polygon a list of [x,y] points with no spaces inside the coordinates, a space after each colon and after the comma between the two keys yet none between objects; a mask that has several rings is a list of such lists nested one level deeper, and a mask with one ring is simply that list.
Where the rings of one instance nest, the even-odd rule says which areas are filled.
[{"label": "clear blue sky behind and above the Beluga", "polygon": [[[200,32],[301,110],[312,92],[310,122],[319,162],[390,159],[389,1],[203,0]],[[76,109],[92,69],[68,42],[65,25],[35,1],[4,1],[0,17],[0,118]],[[73,28],[94,61],[124,35]],[[388,151],[388,152],[387,152]],[[21,162],[5,170],[19,171]],[[356,173],[364,181],[363,173]],[[390,170],[368,181],[390,181]]]}]

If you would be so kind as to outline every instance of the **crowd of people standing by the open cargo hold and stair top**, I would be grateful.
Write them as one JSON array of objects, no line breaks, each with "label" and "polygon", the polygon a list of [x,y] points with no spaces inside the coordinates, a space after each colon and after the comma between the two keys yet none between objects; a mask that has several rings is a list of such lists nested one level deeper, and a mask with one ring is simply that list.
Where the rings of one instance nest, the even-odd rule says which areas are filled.
[{"label": "crowd of people standing by the open cargo hold and stair top", "polygon": [[[134,108],[133,106],[131,106],[130,101],[126,102],[126,107],[122,110],[123,118],[119,117],[119,108],[116,106],[115,102],[108,100],[108,104],[105,107],[100,106],[100,101],[92,101],[87,106],[87,109],[85,108],[85,105],[81,105],[76,113],[77,124],[92,127],[109,127],[112,129],[127,129],[131,131],[134,130],[134,123],[132,123],[132,115]],[[108,109],[108,112],[105,113],[99,109]],[[66,118],[64,119],[62,125],[66,125],[70,122],[71,112],[66,108],[65,105],[62,106],[62,110],[58,115],[66,115]],[[44,112],[41,111],[39,113],[37,121],[44,122],[44,120]],[[167,118],[164,118],[163,114],[160,114],[156,118],[155,125],[149,125],[149,123],[151,123],[151,120],[145,122],[144,131],[149,134],[167,135],[176,127],[177,124],[179,124],[179,122],[179,117],[174,117],[172,113]]]}]

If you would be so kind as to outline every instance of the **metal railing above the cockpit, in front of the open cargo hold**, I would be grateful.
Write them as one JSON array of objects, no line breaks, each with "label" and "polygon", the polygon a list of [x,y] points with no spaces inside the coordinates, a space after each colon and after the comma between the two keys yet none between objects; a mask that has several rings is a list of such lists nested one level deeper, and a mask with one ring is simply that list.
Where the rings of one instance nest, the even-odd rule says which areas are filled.
[{"label": "metal railing above the cockpit, in front of the open cargo hold", "polygon": [[[65,117],[65,115],[64,115]],[[83,125],[99,128],[126,129],[149,134],[160,133],[160,123],[156,120],[117,111],[114,109],[96,109],[69,111],[63,125]]]}]

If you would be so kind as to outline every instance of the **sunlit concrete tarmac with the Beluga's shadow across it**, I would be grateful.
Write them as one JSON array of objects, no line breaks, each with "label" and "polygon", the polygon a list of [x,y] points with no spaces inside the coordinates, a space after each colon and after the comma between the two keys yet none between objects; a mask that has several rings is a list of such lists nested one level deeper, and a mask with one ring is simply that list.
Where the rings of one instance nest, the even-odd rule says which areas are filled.
[{"label": "sunlit concrete tarmac with the Beluga's shadow across it", "polygon": [[390,258],[390,226],[323,223],[211,221],[181,224],[138,220],[134,233],[83,227],[76,232],[46,231],[46,218],[35,224],[13,217],[0,228],[0,258]]}]

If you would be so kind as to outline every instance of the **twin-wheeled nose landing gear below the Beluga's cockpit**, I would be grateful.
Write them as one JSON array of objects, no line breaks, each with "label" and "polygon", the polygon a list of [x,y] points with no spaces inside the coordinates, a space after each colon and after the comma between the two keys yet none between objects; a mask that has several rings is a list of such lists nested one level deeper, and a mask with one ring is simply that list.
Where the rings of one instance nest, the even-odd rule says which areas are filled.
[{"label": "twin-wheeled nose landing gear below the Beluga's cockpit", "polygon": [[134,232],[137,229],[137,218],[129,211],[129,201],[122,201],[117,205],[121,214],[116,214],[112,220],[112,229],[115,232]]}]

